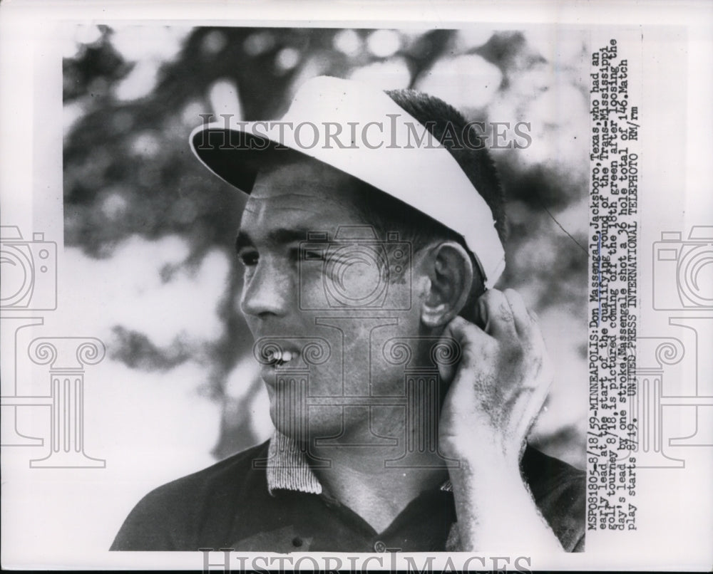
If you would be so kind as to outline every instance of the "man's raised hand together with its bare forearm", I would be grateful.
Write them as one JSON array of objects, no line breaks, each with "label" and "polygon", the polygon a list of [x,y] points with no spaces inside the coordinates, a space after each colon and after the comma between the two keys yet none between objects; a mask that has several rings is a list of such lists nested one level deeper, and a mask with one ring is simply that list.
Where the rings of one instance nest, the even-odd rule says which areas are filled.
[{"label": "man's raised hand together with its bare forearm", "polygon": [[525,438],[547,397],[551,370],[535,318],[510,289],[478,300],[483,329],[455,318],[444,330],[461,345],[441,408],[441,452],[451,469],[458,550],[562,550],[520,476]]}]

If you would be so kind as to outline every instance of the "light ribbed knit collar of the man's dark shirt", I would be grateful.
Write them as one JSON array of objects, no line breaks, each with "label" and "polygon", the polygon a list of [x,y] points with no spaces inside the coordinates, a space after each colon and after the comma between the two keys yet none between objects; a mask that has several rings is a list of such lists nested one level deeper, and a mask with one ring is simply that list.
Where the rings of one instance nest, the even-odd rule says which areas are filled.
[{"label": "light ribbed knit collar of the man's dark shirt", "polygon": [[[292,490],[322,494],[322,484],[307,462],[307,456],[297,441],[275,431],[267,449],[267,491]],[[451,481],[441,484],[441,490],[451,492]]]}]

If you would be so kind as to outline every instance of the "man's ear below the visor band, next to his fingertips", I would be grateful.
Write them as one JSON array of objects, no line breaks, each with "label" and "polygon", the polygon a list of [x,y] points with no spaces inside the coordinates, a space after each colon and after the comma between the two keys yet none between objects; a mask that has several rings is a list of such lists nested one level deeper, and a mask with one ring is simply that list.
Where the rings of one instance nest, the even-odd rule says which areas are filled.
[{"label": "man's ear below the visor band, next to his fingertips", "polygon": [[421,321],[430,328],[443,327],[463,309],[473,284],[473,263],[456,241],[443,241],[429,252],[424,271],[429,292],[421,303]]}]

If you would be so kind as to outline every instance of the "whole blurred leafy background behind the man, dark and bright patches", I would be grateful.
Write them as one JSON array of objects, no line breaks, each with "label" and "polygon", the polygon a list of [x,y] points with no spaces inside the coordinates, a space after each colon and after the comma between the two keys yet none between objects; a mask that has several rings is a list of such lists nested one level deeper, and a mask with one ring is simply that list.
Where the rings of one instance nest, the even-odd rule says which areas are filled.
[{"label": "whole blurred leafy background behind the man, dark and bright patches", "polygon": [[104,438],[158,445],[152,460],[189,457],[186,469],[200,469],[270,436],[237,308],[244,199],[195,160],[188,135],[200,114],[279,118],[304,80],[334,75],[416,88],[471,120],[530,123],[529,147],[493,150],[511,230],[500,286],[540,315],[557,370],[533,441],[583,468],[588,64],[585,34],[548,27],[73,28],[63,46],[61,273],[88,334],[107,344],[104,372],[125,382],[102,400],[150,419]]}]

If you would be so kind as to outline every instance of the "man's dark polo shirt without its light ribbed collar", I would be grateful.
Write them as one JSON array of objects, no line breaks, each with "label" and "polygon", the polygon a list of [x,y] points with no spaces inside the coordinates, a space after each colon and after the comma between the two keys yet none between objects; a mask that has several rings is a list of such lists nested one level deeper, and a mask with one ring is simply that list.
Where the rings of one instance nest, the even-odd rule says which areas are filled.
[{"label": "man's dark polo shirt without its light ribbed collar", "polygon": [[[265,469],[268,442],[160,486],[131,511],[111,550],[404,552],[446,551],[456,511],[453,494],[424,491],[377,533],[326,494],[275,490]],[[584,549],[585,474],[532,447],[523,476],[535,503],[567,551]],[[518,528],[518,517],[512,518]]]}]

